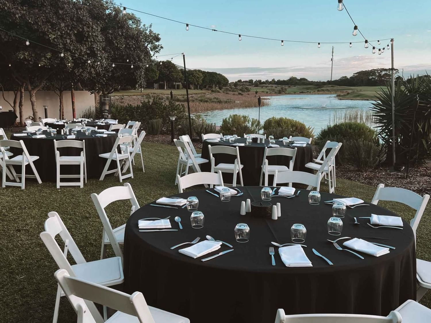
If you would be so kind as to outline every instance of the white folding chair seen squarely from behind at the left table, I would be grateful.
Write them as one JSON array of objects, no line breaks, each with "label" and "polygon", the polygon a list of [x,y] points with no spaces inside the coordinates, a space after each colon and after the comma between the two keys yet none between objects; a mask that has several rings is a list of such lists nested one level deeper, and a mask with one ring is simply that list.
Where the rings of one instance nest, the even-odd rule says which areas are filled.
[{"label": "white folding chair seen squarely from behind at the left table", "polygon": [[[73,147],[82,149],[79,156],[60,156],[58,148]],[[85,140],[54,140],[55,159],[57,166],[57,188],[60,186],[80,186],[84,187],[87,183],[87,162],[85,160]],[[60,165],[79,165],[79,175],[61,175]],[[79,182],[60,182],[60,178],[79,178]]]}]

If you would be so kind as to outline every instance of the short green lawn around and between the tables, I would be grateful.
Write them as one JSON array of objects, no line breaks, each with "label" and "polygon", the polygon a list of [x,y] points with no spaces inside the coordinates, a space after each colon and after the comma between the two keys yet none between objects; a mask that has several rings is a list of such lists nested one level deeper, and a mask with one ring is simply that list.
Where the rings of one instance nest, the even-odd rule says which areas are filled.
[{"label": "short green lawn around and between the tables", "polygon": [[[144,143],[145,173],[134,167],[134,179],[128,179],[140,205],[178,192],[175,179],[178,151],[174,146]],[[139,164],[139,163],[137,163]],[[104,181],[89,180],[83,189],[62,188],[54,183],[38,185],[32,180],[26,189],[0,187],[0,312],[1,322],[50,322],[52,320],[58,269],[47,252],[39,233],[49,211],[57,211],[87,260],[100,257],[102,224],[91,201],[91,193],[120,185],[108,175]],[[336,193],[369,201],[375,187],[337,179]],[[323,189],[326,186],[323,185]],[[399,203],[381,203],[409,220],[414,212]],[[107,208],[113,227],[124,224],[130,206],[115,202]],[[417,232],[417,256],[431,261],[431,207],[425,211]],[[421,301],[431,307],[431,292]],[[60,303],[59,322],[76,322],[66,298]]]}]

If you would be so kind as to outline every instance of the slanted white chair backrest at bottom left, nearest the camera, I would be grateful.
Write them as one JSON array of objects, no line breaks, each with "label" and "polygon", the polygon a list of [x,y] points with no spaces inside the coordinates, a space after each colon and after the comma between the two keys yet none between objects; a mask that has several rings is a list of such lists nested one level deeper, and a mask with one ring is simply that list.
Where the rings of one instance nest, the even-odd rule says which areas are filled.
[{"label": "slanted white chair backrest at bottom left, nearest the camera", "polygon": [[[109,287],[73,277],[66,270],[57,270],[54,276],[77,313],[79,307],[87,308],[88,301],[90,301],[93,306],[94,303],[97,303],[137,317],[140,323],[155,323],[144,295],[141,292],[134,292],[132,295],[129,295]],[[89,311],[84,310],[87,316],[94,315],[91,310],[91,308]],[[100,322],[101,319],[100,314],[96,314],[96,317],[93,316],[93,320],[96,322]],[[88,322],[93,321],[89,320]]]}]

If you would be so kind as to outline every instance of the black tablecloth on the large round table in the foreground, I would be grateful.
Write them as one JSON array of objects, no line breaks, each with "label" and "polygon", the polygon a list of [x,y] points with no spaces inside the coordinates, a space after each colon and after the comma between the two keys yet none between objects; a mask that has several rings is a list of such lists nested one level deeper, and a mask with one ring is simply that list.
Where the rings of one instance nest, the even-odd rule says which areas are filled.
[{"label": "black tablecloth on the large round table in the foreground", "polygon": [[[327,231],[331,205],[309,205],[309,191],[301,190],[292,199],[273,198],[281,203],[281,217],[271,220],[240,215],[240,203],[247,198],[260,200],[258,187],[239,187],[241,197],[221,202],[205,190],[176,194],[187,198],[197,196],[199,210],[205,214],[202,229],[193,229],[191,212],[145,205],[129,218],[125,228],[124,276],[125,291],[140,291],[147,303],[163,310],[188,317],[192,323],[263,323],[274,322],[278,308],[287,314],[359,313],[387,315],[407,299],[416,297],[415,242],[412,229],[403,221],[403,230],[369,227],[371,213],[394,215],[376,205],[347,209],[343,219],[343,236],[363,238],[396,247],[381,257],[365,255],[360,259],[350,252],[337,250],[326,239],[336,239]],[[335,195],[321,193],[321,201]],[[138,232],[137,221],[144,217],[181,217],[183,230]],[[234,227],[238,223],[250,227],[250,241],[238,243]],[[306,226],[304,251],[313,267],[285,267],[275,248],[276,266],[271,265],[270,242],[288,243],[294,223]],[[193,259],[170,247],[210,235],[230,243],[234,251],[212,260],[200,259],[228,250]],[[346,241],[346,240],[344,240]],[[185,245],[185,247],[190,245]],[[180,247],[182,248],[182,247]],[[329,258],[329,266],[313,254],[315,248]]]}]

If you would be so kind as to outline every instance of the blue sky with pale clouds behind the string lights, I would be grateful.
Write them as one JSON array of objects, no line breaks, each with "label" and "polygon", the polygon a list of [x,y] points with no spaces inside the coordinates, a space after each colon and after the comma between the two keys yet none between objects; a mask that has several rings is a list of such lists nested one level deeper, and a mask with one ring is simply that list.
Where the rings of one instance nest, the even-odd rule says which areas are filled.
[{"label": "blue sky with pale clouds behind the string lights", "polygon": [[[371,68],[390,68],[390,50],[382,55],[364,48],[360,34],[352,36],[353,22],[346,10],[337,10],[337,0],[272,1],[142,1],[116,2],[131,9],[207,28],[229,31],[223,34],[133,12],[160,34],[159,55],[185,53],[187,68],[200,68],[237,79],[287,79],[291,76],[326,81],[351,76]],[[370,40],[394,38],[395,68],[404,76],[431,71],[431,0],[344,0],[362,34]],[[237,34],[242,34],[238,40]],[[283,39],[280,41],[244,35]],[[287,40],[310,41],[293,43]],[[349,42],[353,43],[349,47]],[[317,43],[321,42],[321,47]],[[324,42],[347,42],[324,44]],[[389,40],[372,42],[376,48]],[[169,56],[158,59],[170,58]],[[182,65],[182,56],[173,59]]]}]

